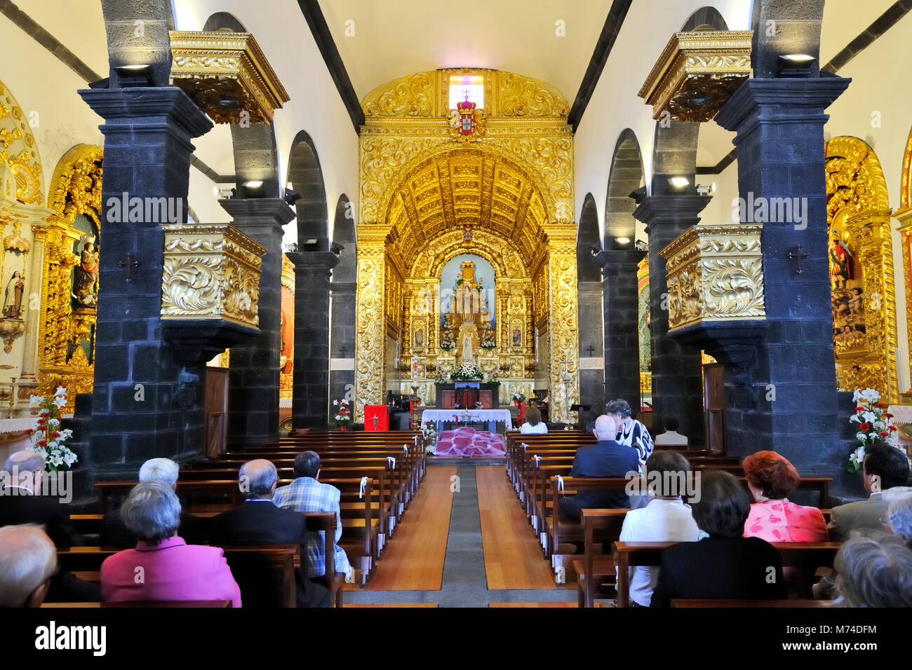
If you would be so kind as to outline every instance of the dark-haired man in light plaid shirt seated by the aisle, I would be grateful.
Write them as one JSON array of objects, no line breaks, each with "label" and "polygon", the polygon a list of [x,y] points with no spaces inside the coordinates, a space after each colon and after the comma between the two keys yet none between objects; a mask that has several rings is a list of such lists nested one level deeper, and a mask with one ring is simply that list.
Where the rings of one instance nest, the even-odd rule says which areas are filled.
[{"label": "dark-haired man in light plaid shirt seated by the aisle", "polygon": [[[333,549],[336,551],[336,572],[350,574],[351,565],[345,550],[337,542],[342,537],[342,516],[339,512],[339,490],[329,484],[321,484],[316,479],[320,476],[320,455],[316,451],[305,451],[295,456],[295,481],[288,486],[275,490],[273,502],[285,510],[295,511],[334,511],[336,512],[336,541]],[[326,579],[324,568],[324,539],[323,532],[307,533],[307,578],[323,577]],[[320,581],[320,580],[316,580]]]}]

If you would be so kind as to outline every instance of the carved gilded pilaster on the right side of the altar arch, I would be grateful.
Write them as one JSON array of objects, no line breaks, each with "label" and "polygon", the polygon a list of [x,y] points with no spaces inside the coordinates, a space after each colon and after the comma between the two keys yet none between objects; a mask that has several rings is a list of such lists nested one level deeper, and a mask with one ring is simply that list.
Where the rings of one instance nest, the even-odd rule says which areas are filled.
[{"label": "carved gilded pilaster on the right side of the altar arch", "polygon": [[[548,238],[548,325],[551,331],[548,378],[551,383],[551,419],[569,423],[570,406],[580,402],[576,227],[552,223],[543,228]],[[570,376],[569,384],[565,384],[564,380],[565,367]]]}]

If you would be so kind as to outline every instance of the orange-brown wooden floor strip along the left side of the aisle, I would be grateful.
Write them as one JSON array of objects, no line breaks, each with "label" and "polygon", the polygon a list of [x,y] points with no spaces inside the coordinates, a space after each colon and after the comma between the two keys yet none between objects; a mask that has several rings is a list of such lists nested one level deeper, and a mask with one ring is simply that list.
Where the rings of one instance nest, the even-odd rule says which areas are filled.
[{"label": "orange-brown wooden floor strip along the left side of the aisle", "polygon": [[[503,475],[503,468],[501,468]],[[450,532],[455,467],[434,466],[377,563],[368,591],[439,591]],[[357,587],[355,587],[357,588]]]}]

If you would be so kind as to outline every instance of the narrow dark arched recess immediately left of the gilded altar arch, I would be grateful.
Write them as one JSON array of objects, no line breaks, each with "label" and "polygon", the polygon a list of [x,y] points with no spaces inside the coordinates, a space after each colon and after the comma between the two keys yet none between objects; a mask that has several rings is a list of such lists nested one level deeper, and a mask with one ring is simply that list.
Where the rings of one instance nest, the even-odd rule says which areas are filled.
[{"label": "narrow dark arched recess immediately left of the gilded altar arch", "polygon": [[355,384],[355,312],[358,249],[352,202],[343,193],[333,217],[333,244],[338,265],[330,281],[329,397],[351,397]]}]

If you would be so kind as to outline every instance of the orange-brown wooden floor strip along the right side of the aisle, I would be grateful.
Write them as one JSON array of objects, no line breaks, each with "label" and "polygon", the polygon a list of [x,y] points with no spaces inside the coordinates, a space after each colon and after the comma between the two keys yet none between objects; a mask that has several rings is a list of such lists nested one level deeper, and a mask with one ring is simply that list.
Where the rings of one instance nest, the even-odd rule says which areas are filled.
[{"label": "orange-brown wooden floor strip along the right side of the aisle", "polygon": [[[525,512],[503,466],[479,466],[475,469],[475,478],[488,588],[557,588],[551,563],[542,555],[541,545],[526,522]],[[575,584],[564,588],[575,588]]]}]

